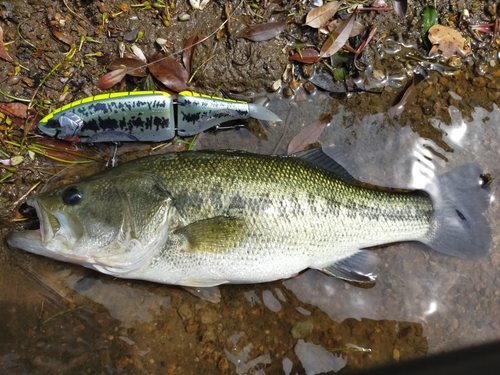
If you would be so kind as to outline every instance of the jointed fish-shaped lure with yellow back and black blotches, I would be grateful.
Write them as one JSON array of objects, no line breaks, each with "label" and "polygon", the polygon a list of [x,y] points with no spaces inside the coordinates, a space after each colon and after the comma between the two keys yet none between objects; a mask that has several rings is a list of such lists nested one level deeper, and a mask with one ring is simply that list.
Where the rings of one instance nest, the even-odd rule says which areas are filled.
[{"label": "jointed fish-shaped lure with yellow back and black blotches", "polygon": [[38,129],[73,142],[159,142],[174,138],[176,132],[179,136],[195,135],[236,119],[281,121],[263,104],[191,91],[180,92],[177,102],[163,91],[118,92],[56,109],[39,122]]}]

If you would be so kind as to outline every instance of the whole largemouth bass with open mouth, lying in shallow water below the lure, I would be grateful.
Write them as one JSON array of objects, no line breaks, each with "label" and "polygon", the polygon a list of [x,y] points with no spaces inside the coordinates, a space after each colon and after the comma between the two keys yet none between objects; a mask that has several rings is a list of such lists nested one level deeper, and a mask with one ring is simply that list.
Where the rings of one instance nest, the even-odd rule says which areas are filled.
[{"label": "whole largemouth bass with open mouth, lying in shallow water below the lure", "polygon": [[365,187],[321,150],[293,156],[148,156],[32,196],[40,229],[10,246],[122,278],[191,287],[258,283],[315,268],[370,282],[368,247],[420,241],[462,258],[488,251],[476,166],[428,192]]}]

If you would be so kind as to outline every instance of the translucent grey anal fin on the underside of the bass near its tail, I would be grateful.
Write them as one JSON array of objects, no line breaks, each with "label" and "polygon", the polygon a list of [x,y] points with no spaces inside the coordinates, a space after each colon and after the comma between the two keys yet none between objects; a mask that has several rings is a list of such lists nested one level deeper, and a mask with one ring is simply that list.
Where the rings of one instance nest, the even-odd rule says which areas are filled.
[{"label": "translucent grey anal fin on the underside of the bass near its tail", "polygon": [[339,260],[320,271],[346,281],[373,283],[378,274],[379,258],[369,250],[359,250],[348,258]]}]

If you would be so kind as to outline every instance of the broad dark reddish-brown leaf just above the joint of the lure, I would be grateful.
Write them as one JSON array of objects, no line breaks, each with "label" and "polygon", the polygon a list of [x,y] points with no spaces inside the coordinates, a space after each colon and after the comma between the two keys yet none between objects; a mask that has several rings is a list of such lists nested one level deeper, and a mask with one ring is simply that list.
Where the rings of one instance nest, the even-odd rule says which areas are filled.
[{"label": "broad dark reddish-brown leaf just above the joint of the lure", "polygon": [[180,62],[161,53],[154,55],[150,60],[153,62],[149,65],[149,71],[165,87],[175,92],[192,90],[192,86],[186,84],[189,74]]}]

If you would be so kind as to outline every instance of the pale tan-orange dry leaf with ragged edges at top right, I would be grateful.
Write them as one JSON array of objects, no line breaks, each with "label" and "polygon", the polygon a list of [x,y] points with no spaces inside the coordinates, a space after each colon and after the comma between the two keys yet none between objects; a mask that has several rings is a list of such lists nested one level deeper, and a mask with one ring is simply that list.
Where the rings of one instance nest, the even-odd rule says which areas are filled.
[{"label": "pale tan-orange dry leaf with ragged edges at top right", "polygon": [[472,54],[462,34],[451,27],[434,25],[429,29],[428,36],[433,44],[429,56],[441,52],[445,58],[449,59],[452,56],[465,57]]}]

